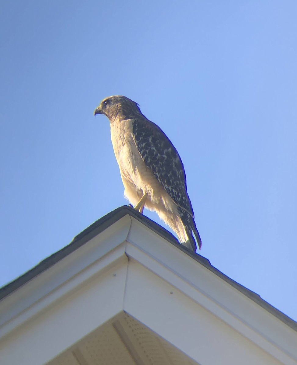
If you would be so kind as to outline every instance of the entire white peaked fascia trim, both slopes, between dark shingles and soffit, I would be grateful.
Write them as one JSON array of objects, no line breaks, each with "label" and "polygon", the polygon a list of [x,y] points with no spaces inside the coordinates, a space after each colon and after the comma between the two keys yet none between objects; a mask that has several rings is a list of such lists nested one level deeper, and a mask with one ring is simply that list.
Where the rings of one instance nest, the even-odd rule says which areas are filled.
[{"label": "entire white peaked fascia trim, both slopes, between dark shingles and soffit", "polygon": [[1,361],[44,364],[122,310],[204,365],[297,364],[292,328],[128,214],[0,301]]}]

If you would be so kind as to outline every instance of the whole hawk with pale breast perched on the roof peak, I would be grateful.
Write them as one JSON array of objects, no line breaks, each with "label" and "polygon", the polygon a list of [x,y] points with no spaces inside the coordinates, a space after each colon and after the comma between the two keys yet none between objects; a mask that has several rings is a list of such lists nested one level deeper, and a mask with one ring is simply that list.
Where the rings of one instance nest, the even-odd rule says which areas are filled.
[{"label": "whole hawk with pale breast perched on the roof peak", "polygon": [[166,134],[148,120],[135,101],[115,95],[103,99],[94,115],[110,120],[114,154],[120,167],[124,195],[140,213],[146,207],[194,252],[201,239],[187,193],[184,165]]}]

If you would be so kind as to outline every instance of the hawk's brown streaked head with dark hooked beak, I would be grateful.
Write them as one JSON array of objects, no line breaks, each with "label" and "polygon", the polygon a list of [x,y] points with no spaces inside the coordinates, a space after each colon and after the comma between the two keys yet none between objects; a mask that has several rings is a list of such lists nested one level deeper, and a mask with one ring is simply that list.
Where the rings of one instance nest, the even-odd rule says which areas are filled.
[{"label": "hawk's brown streaked head with dark hooked beak", "polygon": [[94,110],[94,116],[96,114],[104,114],[110,121],[130,119],[142,115],[138,104],[122,95],[109,96],[103,99]]}]

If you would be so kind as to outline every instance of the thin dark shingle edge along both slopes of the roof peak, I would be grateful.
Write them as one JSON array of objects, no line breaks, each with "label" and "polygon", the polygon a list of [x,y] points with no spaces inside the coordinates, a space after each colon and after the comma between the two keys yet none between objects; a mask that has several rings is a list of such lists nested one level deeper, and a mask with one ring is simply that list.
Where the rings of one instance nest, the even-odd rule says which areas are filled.
[{"label": "thin dark shingle edge along both slopes of the roof peak", "polygon": [[94,238],[96,235],[104,231],[106,228],[110,227],[112,224],[123,218],[125,215],[130,215],[131,217],[138,220],[140,223],[143,223],[152,231],[154,231],[155,233],[166,239],[166,241],[170,242],[172,245],[176,246],[178,249],[180,249],[190,257],[192,257],[193,260],[198,261],[205,268],[207,268],[215,275],[226,281],[226,283],[236,288],[238,291],[243,293],[249,299],[253,300],[259,306],[267,310],[270,314],[274,315],[283,323],[287,324],[287,326],[297,331],[297,322],[295,322],[293,319],[291,319],[290,317],[279,311],[277,308],[273,307],[267,301],[263,300],[260,297],[260,295],[252,292],[251,290],[245,288],[243,285],[238,284],[236,281],[232,280],[231,278],[223,274],[221,271],[219,271],[213,265],[211,265],[209,260],[201,256],[200,254],[193,253],[183,245],[180,245],[177,239],[171,233],[169,233],[165,228],[161,227],[153,220],[140,214],[138,211],[135,211],[134,208],[131,208],[127,205],[123,205],[122,207],[119,207],[114,211],[106,214],[102,218],[98,219],[96,222],[94,222],[85,230],[83,230],[81,233],[79,233],[72,240],[72,242],[69,243],[69,245],[63,247],[63,249],[45,258],[45,260],[41,261],[38,265],[36,265],[34,268],[24,273],[22,276],[16,278],[15,280],[11,281],[7,285],[0,288],[0,300],[6,297],[7,295],[11,294],[12,292],[14,292],[16,289],[20,288],[22,285],[26,284],[28,281],[30,281],[35,276],[48,269],[50,266],[56,264],[64,257],[71,254],[73,251],[84,245],[84,243],[90,241],[90,239]]}]

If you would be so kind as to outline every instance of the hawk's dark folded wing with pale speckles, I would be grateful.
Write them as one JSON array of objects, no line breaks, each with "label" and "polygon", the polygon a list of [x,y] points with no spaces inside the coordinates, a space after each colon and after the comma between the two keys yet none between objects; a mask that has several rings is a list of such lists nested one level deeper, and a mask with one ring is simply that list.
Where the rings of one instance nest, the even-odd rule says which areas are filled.
[{"label": "hawk's dark folded wing with pale speckles", "polygon": [[166,134],[144,118],[133,119],[133,139],[148,168],[178,207],[193,214],[184,165]]}]

